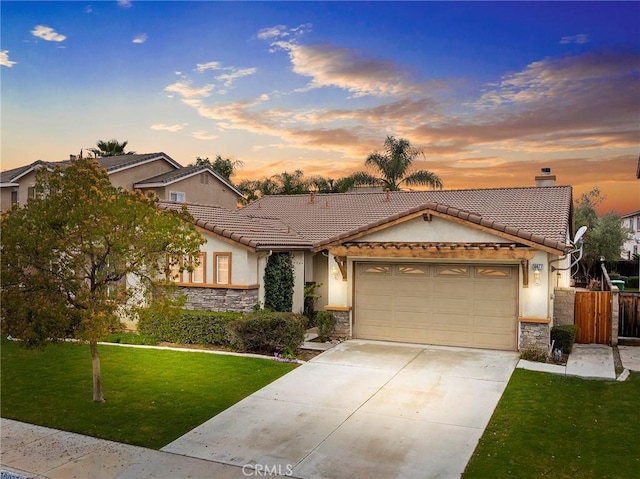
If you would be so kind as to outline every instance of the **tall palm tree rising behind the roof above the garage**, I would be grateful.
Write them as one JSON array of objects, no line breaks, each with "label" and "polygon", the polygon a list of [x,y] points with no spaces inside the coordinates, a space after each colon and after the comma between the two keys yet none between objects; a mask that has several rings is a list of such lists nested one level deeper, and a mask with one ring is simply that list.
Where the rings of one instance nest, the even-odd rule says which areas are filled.
[{"label": "tall palm tree rising behind the roof above the garage", "polygon": [[442,189],[442,180],[435,173],[427,170],[409,169],[422,151],[411,146],[409,140],[387,136],[383,153],[372,153],[367,157],[365,165],[377,170],[377,175],[365,171],[354,173],[350,179],[355,185],[383,186],[385,190],[399,191],[401,186],[426,185]]}]

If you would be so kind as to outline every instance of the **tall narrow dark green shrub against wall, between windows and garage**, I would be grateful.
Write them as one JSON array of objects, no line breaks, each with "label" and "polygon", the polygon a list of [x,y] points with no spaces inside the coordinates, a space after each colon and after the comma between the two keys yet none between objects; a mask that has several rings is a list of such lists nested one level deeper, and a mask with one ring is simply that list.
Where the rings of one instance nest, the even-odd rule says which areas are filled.
[{"label": "tall narrow dark green shrub against wall, between windows and garage", "polygon": [[293,307],[293,255],[273,253],[264,269],[264,307],[291,311]]}]

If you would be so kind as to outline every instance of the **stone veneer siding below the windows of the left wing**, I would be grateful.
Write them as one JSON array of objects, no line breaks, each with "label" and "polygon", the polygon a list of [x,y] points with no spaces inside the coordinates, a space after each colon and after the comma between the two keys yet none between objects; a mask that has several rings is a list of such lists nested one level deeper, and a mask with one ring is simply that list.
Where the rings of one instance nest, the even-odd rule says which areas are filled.
[{"label": "stone veneer siding below the windows of the left wing", "polygon": [[226,289],[180,286],[187,296],[187,309],[200,311],[236,311],[247,313],[258,304],[258,288]]}]

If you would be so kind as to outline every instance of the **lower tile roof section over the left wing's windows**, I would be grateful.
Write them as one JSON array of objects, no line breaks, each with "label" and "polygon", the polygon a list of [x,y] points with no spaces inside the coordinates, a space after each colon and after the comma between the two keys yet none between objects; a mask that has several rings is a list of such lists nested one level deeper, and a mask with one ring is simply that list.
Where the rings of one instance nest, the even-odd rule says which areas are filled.
[{"label": "lower tile roof section over the left wing's windows", "polygon": [[158,203],[158,208],[163,210],[182,207],[193,216],[196,226],[255,250],[309,250],[312,247],[311,241],[278,219],[250,217],[221,206],[172,201]]}]

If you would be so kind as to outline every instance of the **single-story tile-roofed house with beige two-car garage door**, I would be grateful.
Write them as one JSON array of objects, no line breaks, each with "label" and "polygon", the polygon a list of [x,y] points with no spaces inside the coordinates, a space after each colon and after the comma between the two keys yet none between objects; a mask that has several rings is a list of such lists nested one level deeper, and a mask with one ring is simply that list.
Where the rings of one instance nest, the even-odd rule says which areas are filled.
[{"label": "single-story tile-roofed house with beige two-car garage door", "polygon": [[188,307],[250,310],[264,300],[268,256],[289,251],[293,310],[315,282],[317,309],[333,311],[346,336],[546,348],[554,288],[571,279],[572,190],[552,186],[548,172],[536,180],[535,188],[265,196],[237,211],[187,204],[207,243],[200,266],[178,283]]}]

